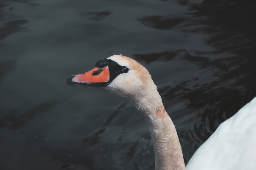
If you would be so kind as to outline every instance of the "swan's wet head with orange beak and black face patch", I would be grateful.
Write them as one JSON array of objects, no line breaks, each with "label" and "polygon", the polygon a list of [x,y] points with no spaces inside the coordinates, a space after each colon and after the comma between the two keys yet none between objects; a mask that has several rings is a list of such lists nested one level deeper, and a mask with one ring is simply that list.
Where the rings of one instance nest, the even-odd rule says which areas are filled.
[{"label": "swan's wet head with orange beak and black face patch", "polygon": [[153,97],[159,96],[147,69],[134,59],[122,55],[100,60],[92,70],[69,76],[67,84],[103,87],[131,100],[139,110],[146,107],[143,103],[148,104]]}]

